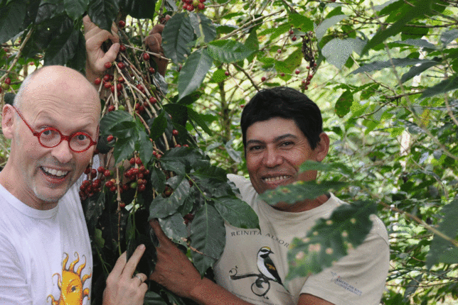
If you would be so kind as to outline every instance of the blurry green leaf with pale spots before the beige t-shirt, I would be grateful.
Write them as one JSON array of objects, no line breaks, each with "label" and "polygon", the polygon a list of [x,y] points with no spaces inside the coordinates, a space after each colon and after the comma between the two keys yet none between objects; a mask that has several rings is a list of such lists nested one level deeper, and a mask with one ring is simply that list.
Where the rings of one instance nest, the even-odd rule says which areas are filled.
[{"label": "blurry green leaf with pale spots before the beige t-shirt", "polygon": [[371,231],[370,216],[376,211],[376,204],[369,201],[342,204],[329,219],[316,221],[305,238],[294,238],[288,251],[287,280],[321,272],[344,257],[349,249],[361,245]]}]

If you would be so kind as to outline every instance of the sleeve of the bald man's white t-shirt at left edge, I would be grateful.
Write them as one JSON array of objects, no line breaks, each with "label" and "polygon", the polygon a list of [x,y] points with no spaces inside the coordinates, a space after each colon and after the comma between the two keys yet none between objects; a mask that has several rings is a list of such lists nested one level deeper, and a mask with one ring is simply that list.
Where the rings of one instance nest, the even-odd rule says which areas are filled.
[{"label": "sleeve of the bald man's white t-shirt at left edge", "polygon": [[0,304],[31,305],[31,292],[13,245],[0,235]]}]

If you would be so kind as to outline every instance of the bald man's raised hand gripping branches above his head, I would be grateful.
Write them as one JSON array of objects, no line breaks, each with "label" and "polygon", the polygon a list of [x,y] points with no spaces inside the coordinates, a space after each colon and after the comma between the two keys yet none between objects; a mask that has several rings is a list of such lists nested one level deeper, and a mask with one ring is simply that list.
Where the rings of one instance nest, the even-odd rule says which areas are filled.
[{"label": "bald man's raised hand gripping branches above his head", "polygon": [[[112,33],[96,26],[87,15],[82,18],[82,23],[85,27],[86,40],[86,77],[92,83],[97,77],[102,76],[105,62],[113,62],[116,59],[119,52],[119,37],[115,23],[112,24]],[[105,53],[101,47],[108,39],[113,44]]]}]

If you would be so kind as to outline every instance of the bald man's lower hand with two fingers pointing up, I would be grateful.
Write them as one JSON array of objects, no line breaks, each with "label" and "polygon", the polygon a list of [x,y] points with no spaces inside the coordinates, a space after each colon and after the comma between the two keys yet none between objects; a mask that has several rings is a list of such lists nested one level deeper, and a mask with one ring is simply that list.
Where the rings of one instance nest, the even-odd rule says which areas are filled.
[{"label": "bald man's lower hand with two fingers pointing up", "polygon": [[148,285],[144,281],[148,277],[143,273],[134,276],[134,271],[144,250],[145,246],[139,245],[128,262],[126,262],[125,252],[117,259],[115,267],[107,278],[107,288],[103,292],[103,305],[143,305],[144,295],[148,290]]}]

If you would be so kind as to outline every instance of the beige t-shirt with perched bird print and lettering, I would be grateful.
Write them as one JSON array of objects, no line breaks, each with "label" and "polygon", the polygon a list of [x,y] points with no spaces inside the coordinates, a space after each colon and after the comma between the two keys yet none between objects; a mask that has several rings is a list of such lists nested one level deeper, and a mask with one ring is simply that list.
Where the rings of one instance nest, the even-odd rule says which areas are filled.
[{"label": "beige t-shirt with perched bird print and lettering", "polygon": [[[229,292],[252,304],[295,305],[300,294],[312,294],[336,305],[376,305],[385,287],[389,267],[388,234],[383,222],[372,216],[373,228],[366,240],[346,257],[317,275],[299,277],[284,284],[287,252],[292,238],[303,238],[319,218],[329,218],[346,204],[331,194],[321,206],[289,213],[273,209],[258,198],[249,180],[229,174],[260,220],[261,231],[226,224],[226,245],[215,265],[215,279]],[[275,265],[278,275],[267,272],[264,262]],[[274,272],[275,273],[275,272]]]}]

